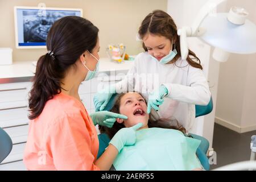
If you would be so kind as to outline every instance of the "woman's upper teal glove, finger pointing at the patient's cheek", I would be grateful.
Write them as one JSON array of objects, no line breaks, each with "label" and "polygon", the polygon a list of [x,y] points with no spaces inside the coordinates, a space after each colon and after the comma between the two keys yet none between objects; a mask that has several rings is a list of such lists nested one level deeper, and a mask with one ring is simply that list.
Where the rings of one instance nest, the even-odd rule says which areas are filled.
[{"label": "woman's upper teal glove, finger pointing at the patient's cheek", "polygon": [[126,115],[112,113],[109,111],[98,111],[90,114],[94,125],[112,127],[116,118],[127,119]]}]

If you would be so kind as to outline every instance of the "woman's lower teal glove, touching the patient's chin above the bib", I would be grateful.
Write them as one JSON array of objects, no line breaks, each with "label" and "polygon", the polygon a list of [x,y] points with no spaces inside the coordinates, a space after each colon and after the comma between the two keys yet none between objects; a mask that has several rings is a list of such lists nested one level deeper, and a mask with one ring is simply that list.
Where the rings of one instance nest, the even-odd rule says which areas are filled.
[{"label": "woman's lower teal glove, touching the patient's chin above the bib", "polygon": [[109,143],[113,144],[115,148],[117,148],[118,152],[120,152],[123,146],[130,146],[136,142],[136,133],[135,131],[142,127],[142,123],[138,123],[132,127],[124,127],[119,130],[112,140]]}]

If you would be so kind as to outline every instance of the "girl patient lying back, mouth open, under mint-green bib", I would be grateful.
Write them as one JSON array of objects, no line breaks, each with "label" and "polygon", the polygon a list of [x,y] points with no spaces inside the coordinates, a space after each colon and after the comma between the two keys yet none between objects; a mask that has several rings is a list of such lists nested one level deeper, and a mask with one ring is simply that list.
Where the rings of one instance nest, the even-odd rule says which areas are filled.
[{"label": "girl patient lying back, mouth open, under mint-green bib", "polygon": [[136,92],[119,94],[111,110],[124,114],[112,128],[99,126],[101,133],[111,139],[123,127],[142,123],[136,131],[136,143],[119,152],[113,166],[116,170],[192,170],[201,169],[196,156],[200,140],[185,137],[185,129],[176,119],[153,121],[147,114],[147,104]]}]

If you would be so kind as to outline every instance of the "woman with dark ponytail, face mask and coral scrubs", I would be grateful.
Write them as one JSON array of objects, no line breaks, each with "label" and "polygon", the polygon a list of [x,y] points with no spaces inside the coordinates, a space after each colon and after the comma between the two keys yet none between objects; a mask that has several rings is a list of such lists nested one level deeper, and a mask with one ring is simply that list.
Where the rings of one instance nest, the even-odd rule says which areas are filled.
[{"label": "woman with dark ponytail, face mask and coral scrubs", "polygon": [[79,85],[98,69],[98,28],[89,20],[66,16],[47,36],[48,53],[39,58],[30,92],[30,128],[23,162],[28,170],[109,170],[123,146],[135,143],[142,123],[118,131],[104,154],[94,125],[112,127],[125,115],[100,111],[88,114]]}]

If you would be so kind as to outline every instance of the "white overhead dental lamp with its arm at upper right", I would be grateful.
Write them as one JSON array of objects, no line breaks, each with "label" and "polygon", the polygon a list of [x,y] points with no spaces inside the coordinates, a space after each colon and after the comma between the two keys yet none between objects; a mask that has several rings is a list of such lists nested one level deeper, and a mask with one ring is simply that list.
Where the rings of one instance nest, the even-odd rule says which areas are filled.
[{"label": "white overhead dental lamp with its arm at upper right", "polygon": [[224,62],[230,53],[250,54],[256,52],[256,25],[247,20],[245,9],[232,7],[229,13],[211,13],[226,0],[210,0],[197,14],[192,27],[177,30],[180,36],[181,58],[188,56],[187,37],[198,37],[215,47],[213,59]]}]

